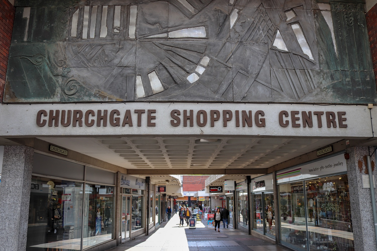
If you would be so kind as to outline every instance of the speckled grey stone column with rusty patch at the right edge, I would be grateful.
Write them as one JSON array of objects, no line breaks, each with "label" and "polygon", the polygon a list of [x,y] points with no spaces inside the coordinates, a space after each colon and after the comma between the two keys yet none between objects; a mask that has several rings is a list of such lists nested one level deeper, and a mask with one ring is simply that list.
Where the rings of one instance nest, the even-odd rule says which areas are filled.
[{"label": "speckled grey stone column with rusty patch at the right edge", "polygon": [[[372,154],[374,148],[371,148]],[[372,214],[372,202],[370,189],[362,188],[362,175],[368,174],[366,156],[368,147],[352,147],[346,152],[349,154],[347,163],[348,185],[352,213],[352,229],[355,251],[377,250],[374,223]],[[375,168],[375,156],[371,157],[372,170],[377,184],[377,172]],[[377,194],[377,190],[375,189]],[[374,201],[373,203],[376,203]]]}]

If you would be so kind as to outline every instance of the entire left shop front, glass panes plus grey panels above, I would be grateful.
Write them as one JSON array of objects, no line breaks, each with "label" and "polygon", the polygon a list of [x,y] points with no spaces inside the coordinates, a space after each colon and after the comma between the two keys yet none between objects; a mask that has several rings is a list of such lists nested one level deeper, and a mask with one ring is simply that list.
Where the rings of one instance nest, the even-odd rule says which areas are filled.
[{"label": "entire left shop front, glass panes plus grey panels above", "polygon": [[26,251],[83,250],[114,239],[114,199],[115,173],[35,153]]}]

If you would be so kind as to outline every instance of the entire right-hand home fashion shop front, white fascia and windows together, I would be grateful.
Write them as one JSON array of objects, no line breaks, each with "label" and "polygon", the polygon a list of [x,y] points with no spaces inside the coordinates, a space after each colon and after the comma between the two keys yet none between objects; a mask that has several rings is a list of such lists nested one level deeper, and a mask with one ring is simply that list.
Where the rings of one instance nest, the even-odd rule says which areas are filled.
[{"label": "entire right-hand home fashion shop front, white fascia and windows together", "polygon": [[296,250],[354,250],[343,152],[277,172],[280,242]]}]

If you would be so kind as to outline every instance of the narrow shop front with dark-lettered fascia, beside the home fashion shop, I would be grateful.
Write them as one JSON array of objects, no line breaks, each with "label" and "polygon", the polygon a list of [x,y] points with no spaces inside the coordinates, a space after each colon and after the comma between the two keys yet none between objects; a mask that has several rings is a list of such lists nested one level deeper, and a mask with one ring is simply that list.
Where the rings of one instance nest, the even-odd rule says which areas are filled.
[{"label": "narrow shop front with dark-lettered fascia, beside the home fashion shop", "polygon": [[275,238],[275,206],[272,174],[251,180],[253,230]]}]

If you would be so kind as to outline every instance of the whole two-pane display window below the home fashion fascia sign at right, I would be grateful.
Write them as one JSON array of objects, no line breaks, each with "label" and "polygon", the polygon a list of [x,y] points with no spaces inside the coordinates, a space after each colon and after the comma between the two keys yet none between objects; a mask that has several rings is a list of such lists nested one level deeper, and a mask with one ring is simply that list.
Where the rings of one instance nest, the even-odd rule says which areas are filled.
[{"label": "whole two-pane display window below the home fashion fascia sign at right", "polygon": [[347,175],[281,184],[279,202],[283,242],[313,251],[354,248]]}]

